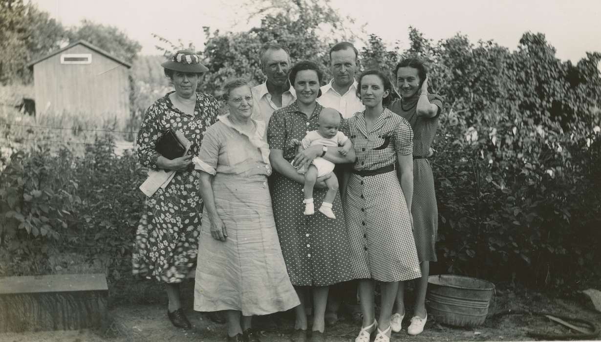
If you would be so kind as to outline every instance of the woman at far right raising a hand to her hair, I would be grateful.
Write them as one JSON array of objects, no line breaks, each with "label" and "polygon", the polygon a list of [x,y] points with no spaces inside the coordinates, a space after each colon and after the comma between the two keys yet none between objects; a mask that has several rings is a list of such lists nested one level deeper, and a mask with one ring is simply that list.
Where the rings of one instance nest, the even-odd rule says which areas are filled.
[{"label": "woman at far right raising a hand to her hair", "polygon": [[[392,112],[409,121],[413,129],[413,237],[421,266],[421,278],[416,286],[415,307],[410,335],[423,331],[426,324],[426,289],[430,261],[436,261],[436,232],[438,230],[438,207],[434,191],[434,177],[427,159],[430,145],[436,135],[438,118],[441,113],[442,97],[428,94],[426,68],[421,61],[409,58],[398,63],[395,69],[397,86],[401,99],[389,105]],[[397,311],[392,315],[392,330],[400,331],[404,317],[404,284],[401,282],[397,293]]]}]

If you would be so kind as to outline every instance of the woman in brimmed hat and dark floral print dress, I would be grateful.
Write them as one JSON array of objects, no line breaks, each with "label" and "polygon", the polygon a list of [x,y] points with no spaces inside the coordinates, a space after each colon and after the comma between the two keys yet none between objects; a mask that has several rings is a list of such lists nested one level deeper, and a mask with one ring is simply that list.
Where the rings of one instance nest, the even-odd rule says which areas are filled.
[{"label": "woman in brimmed hat and dark floral print dress", "polygon": [[[197,93],[200,76],[209,69],[193,52],[177,51],[161,66],[175,91],[148,108],[136,144],[142,165],[175,171],[175,175],[168,185],[147,198],[147,210],[136,232],[133,274],[163,282],[169,320],[178,328],[189,329],[191,324],[180,304],[179,284],[194,269],[203,212],[192,156],[200,150],[204,131],[217,121],[219,104],[213,96]],[[184,156],[168,159],[157,152],[157,141],[168,129],[183,133],[191,142]]]}]

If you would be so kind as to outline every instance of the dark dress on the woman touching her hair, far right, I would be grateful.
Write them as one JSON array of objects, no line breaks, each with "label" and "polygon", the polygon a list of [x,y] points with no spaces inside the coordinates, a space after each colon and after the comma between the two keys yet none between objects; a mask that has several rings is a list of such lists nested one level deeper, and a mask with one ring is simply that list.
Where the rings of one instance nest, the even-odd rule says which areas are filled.
[{"label": "dark dress on the woman touching her hair, far right", "polygon": [[[442,97],[436,94],[428,96],[430,103],[438,106],[439,111],[433,118],[416,115],[418,96],[399,99],[391,103],[392,112],[409,121],[413,129],[413,155],[427,156],[430,145],[436,135],[438,118],[441,114]],[[434,190],[434,176],[428,159],[413,160],[413,236],[419,261],[436,261],[436,235],[438,233],[438,206]]]}]

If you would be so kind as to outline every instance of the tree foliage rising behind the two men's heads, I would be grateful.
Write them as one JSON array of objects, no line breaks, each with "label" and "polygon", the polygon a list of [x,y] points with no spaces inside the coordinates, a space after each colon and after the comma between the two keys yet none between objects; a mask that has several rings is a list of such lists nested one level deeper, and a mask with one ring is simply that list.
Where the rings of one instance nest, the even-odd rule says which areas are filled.
[{"label": "tree foliage rising behind the two men's heads", "polygon": [[245,77],[254,84],[264,82],[258,56],[261,46],[271,41],[288,47],[292,63],[316,61],[328,81],[329,48],[335,40],[347,39],[351,32],[342,25],[344,18],[329,1],[272,0],[252,4],[251,17],[261,16],[260,26],[246,32],[211,32],[204,28],[206,44],[200,53],[210,72],[204,76],[199,91],[218,93],[224,81],[233,77]]}]

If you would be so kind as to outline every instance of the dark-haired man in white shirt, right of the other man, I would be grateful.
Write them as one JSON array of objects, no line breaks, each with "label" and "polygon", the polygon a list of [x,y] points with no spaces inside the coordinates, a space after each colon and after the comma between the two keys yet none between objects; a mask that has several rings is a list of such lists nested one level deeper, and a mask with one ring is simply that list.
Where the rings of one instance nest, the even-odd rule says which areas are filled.
[{"label": "dark-haired man in white shirt, right of the other man", "polygon": [[336,109],[344,118],[350,118],[365,106],[357,97],[355,72],[359,70],[359,52],[353,44],[341,41],[330,49],[328,67],[334,76],[322,87],[322,96],[317,102],[324,107]]}]

